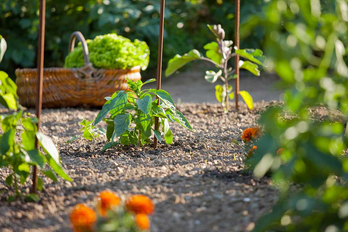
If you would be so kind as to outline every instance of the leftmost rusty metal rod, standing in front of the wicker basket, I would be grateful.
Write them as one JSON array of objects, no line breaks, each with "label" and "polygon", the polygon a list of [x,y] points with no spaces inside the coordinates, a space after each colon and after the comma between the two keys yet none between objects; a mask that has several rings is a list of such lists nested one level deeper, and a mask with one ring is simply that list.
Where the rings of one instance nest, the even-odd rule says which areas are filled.
[{"label": "leftmost rusty metal rod, standing in front of the wicker basket", "polygon": [[[39,36],[38,36],[38,80],[37,80],[37,92],[36,92],[36,117],[38,118],[37,127],[40,130],[40,118],[42,109],[42,79],[44,72],[44,47],[45,47],[45,9],[46,0],[40,0],[39,10]],[[38,139],[35,137],[35,149],[39,148]],[[36,193],[38,189],[38,169],[34,166],[33,169],[33,186],[31,188],[32,193]]]}]

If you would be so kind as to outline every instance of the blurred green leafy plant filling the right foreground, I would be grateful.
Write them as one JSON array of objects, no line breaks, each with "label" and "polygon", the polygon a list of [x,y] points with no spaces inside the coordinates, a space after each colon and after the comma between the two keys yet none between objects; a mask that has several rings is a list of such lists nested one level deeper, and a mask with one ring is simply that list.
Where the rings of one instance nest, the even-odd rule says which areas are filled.
[{"label": "blurred green leafy plant filling the right foreground", "polygon": [[347,0],[274,0],[250,19],[251,30],[266,29],[266,65],[285,90],[284,104],[262,113],[264,135],[246,159],[280,189],[254,231],[348,231],[347,9]]}]

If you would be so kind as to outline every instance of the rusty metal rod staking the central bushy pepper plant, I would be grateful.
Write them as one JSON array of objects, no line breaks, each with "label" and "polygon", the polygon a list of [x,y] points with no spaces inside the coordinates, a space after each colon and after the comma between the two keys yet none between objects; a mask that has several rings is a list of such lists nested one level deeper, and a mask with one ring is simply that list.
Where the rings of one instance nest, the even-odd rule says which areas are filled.
[{"label": "rusty metal rod staking the central bushy pepper plant", "polygon": [[[161,89],[161,74],[162,74],[162,50],[163,50],[163,24],[164,24],[164,0],[161,0],[161,9],[159,13],[159,35],[158,35],[158,58],[157,58],[157,90]],[[159,98],[157,105],[159,105]],[[158,117],[155,117],[155,130],[158,130]],[[158,141],[156,136],[153,136],[153,148],[157,148]]]}]

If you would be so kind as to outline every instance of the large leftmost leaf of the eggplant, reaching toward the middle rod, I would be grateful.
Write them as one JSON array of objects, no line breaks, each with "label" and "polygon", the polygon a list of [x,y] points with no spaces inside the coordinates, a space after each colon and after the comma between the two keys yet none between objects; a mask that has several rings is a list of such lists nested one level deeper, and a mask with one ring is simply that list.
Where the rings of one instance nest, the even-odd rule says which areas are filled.
[{"label": "large leftmost leaf of the eggplant, reaching toward the middle rod", "polygon": [[175,55],[174,58],[170,59],[168,62],[167,69],[165,71],[166,77],[172,75],[176,70],[180,69],[185,64],[199,59],[201,57],[199,51],[193,49],[183,56]]}]

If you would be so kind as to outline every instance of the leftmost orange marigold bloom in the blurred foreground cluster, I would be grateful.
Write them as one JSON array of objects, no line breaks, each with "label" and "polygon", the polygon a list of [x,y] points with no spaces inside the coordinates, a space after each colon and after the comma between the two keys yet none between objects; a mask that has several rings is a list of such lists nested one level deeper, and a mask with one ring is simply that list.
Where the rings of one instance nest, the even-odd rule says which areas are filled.
[{"label": "leftmost orange marigold bloom in the blurred foreground cluster", "polygon": [[70,221],[75,232],[92,232],[97,215],[84,204],[77,204],[70,214]]}]

